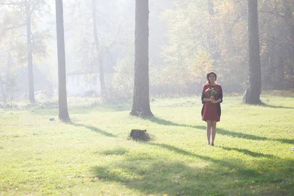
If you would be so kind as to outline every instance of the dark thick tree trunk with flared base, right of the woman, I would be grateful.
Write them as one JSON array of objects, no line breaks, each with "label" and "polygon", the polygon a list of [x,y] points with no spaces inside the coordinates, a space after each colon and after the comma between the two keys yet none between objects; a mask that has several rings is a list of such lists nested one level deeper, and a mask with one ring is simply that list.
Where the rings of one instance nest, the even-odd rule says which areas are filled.
[{"label": "dark thick tree trunk with flared base, right of the woman", "polygon": [[243,100],[248,104],[261,104],[261,65],[258,34],[257,0],[248,0],[249,87]]}]

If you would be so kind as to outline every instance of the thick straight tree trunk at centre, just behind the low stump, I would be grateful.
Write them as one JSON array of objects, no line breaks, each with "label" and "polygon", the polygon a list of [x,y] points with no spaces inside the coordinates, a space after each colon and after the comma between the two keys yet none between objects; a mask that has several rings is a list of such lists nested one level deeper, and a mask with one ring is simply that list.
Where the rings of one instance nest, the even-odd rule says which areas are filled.
[{"label": "thick straight tree trunk at centre, just behind the low stump", "polygon": [[135,78],[132,116],[153,116],[149,102],[148,0],[136,0],[135,13]]}]

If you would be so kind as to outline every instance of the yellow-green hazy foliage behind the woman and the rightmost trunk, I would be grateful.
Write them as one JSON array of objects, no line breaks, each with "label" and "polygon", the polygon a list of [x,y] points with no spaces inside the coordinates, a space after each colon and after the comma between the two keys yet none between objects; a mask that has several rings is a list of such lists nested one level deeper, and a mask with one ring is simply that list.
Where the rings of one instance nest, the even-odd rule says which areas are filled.
[{"label": "yellow-green hazy foliage behind the woman and the rightmost trunk", "polygon": [[[174,0],[174,8],[163,12],[168,45],[162,47],[165,61],[162,70],[169,71],[161,79],[170,80],[175,71],[181,74],[183,67],[187,68],[193,62],[191,58],[199,52],[206,52],[216,67],[209,70],[206,64],[200,63],[198,71],[193,73],[193,78],[198,80],[190,81],[190,84],[204,82],[204,73],[209,70],[220,74],[219,80],[225,89],[241,91],[247,81],[248,67],[247,4],[239,0],[212,2],[212,15],[207,0]],[[294,75],[294,17],[289,15],[293,10],[290,0],[263,0],[259,3],[263,88],[284,89],[286,78],[283,73]],[[181,80],[183,75],[186,74],[179,76]],[[189,83],[181,84],[189,86]]]}]

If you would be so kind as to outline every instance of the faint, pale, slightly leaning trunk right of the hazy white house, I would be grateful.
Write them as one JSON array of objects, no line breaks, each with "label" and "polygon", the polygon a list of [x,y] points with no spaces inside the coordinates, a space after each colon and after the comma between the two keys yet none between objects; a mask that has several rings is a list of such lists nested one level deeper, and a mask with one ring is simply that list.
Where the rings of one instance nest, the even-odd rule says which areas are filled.
[{"label": "faint, pale, slightly leaning trunk right of the hazy white house", "polygon": [[106,87],[105,87],[104,69],[103,69],[103,51],[102,51],[102,49],[99,49],[98,31],[97,31],[96,0],[91,0],[91,1],[92,1],[92,16],[93,16],[94,42],[95,42],[96,50],[97,50],[97,53],[98,53],[101,97],[104,98],[105,95],[106,95]]}]

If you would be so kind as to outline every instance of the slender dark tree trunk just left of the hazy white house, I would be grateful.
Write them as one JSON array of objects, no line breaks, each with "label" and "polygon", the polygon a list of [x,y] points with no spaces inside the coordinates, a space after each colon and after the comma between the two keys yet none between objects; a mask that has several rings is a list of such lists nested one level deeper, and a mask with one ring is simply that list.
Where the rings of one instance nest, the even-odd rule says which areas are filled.
[{"label": "slender dark tree trunk just left of the hazy white house", "polygon": [[66,92],[66,66],[65,66],[65,46],[63,27],[63,4],[62,0],[55,0],[56,6],[56,34],[57,34],[57,56],[58,56],[58,106],[59,119],[70,121],[67,92]]}]

